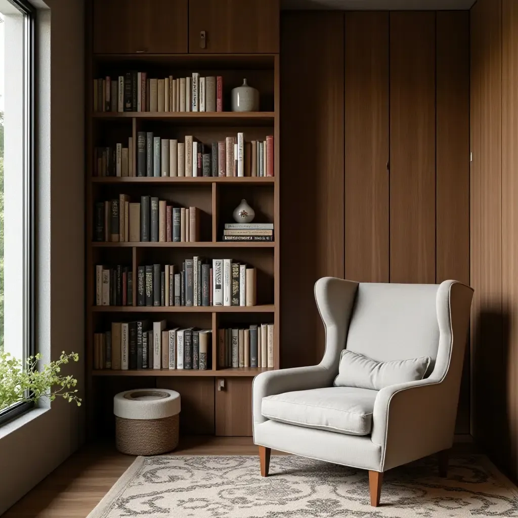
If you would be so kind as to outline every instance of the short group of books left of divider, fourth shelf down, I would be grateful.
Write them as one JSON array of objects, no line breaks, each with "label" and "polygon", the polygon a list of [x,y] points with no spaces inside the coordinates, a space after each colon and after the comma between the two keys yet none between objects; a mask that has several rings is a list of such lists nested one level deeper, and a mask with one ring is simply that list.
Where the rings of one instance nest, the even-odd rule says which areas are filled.
[{"label": "short group of books left of divider, fourth shelf down", "polygon": [[133,271],[130,266],[95,266],[95,305],[133,306]]}]

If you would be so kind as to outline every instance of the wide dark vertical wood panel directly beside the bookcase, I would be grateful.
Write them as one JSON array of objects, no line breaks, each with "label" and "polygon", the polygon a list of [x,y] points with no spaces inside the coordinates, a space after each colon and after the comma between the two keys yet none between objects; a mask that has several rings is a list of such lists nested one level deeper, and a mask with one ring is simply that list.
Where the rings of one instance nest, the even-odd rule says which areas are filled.
[{"label": "wide dark vertical wood panel directly beside the bookcase", "polygon": [[319,362],[313,285],[343,277],[343,14],[281,18],[281,367]]}]

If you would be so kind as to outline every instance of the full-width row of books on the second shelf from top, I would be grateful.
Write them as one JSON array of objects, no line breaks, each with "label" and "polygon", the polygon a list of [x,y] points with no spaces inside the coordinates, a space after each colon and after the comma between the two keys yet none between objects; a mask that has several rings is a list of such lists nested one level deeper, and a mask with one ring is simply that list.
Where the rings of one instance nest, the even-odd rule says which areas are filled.
[{"label": "full-width row of books on the second shelf from top", "polygon": [[237,137],[205,144],[192,135],[184,142],[156,137],[153,132],[137,133],[136,164],[133,139],[128,147],[96,147],[94,176],[116,177],[226,177],[274,176],[274,137],[244,141]]}]

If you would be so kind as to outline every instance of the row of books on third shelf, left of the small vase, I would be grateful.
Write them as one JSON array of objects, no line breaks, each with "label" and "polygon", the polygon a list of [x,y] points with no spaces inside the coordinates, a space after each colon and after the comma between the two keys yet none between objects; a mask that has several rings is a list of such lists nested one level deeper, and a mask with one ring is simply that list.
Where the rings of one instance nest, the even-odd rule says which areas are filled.
[{"label": "row of books on third shelf, left of the small vase", "polygon": [[154,196],[130,196],[96,202],[94,241],[106,242],[196,242],[199,241],[200,211],[197,207],[173,207]]}]

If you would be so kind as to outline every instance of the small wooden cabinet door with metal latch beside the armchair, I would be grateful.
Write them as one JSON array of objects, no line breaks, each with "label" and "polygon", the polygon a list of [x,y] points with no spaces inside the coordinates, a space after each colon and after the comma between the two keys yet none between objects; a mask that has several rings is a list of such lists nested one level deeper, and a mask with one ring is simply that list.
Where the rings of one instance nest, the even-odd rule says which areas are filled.
[{"label": "small wooden cabinet door with metal latch beside the armchair", "polygon": [[[218,387],[218,378],[216,379]],[[219,436],[252,435],[252,378],[224,378],[215,390],[215,428]]]}]

